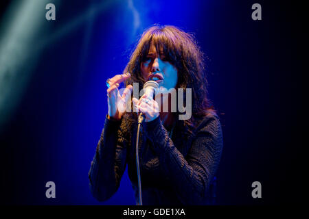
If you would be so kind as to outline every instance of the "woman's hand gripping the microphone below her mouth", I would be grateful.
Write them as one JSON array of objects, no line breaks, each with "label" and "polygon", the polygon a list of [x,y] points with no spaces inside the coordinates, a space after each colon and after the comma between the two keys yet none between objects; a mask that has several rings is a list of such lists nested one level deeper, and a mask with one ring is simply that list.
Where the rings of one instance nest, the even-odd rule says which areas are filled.
[{"label": "woman's hand gripping the microphone below her mouth", "polygon": [[132,101],[136,111],[145,115],[145,122],[155,120],[160,115],[159,104],[147,94],[141,96],[139,100],[133,97]]}]

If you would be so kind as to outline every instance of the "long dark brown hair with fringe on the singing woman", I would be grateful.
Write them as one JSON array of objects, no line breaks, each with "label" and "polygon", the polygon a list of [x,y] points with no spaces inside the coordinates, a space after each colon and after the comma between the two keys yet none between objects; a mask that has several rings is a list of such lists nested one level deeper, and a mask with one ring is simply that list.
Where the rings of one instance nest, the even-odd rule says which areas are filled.
[{"label": "long dark brown hair with fringe on the singing woman", "polygon": [[131,74],[126,85],[138,82],[139,88],[143,88],[146,81],[141,75],[141,62],[146,60],[151,44],[154,44],[157,51],[163,51],[168,61],[176,67],[176,88],[183,88],[184,91],[192,88],[192,117],[184,120],[185,125],[192,127],[196,118],[209,113],[215,114],[214,107],[207,98],[204,54],[196,44],[194,36],[178,27],[154,25],[144,31],[124,69],[124,73]]}]

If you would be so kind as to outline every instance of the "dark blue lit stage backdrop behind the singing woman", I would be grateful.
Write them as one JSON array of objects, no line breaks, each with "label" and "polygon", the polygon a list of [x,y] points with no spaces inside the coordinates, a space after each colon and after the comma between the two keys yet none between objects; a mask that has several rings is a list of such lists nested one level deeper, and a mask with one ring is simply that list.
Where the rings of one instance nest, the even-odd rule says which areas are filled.
[{"label": "dark blue lit stage backdrop behind the singing woman", "polygon": [[[56,21],[46,21],[43,9],[45,32],[38,43],[48,43],[0,136],[1,203],[135,205],[127,172],[104,203],[91,196],[87,173],[107,111],[105,81],[122,72],[139,35],[155,23],[194,33],[208,57],[209,98],[224,134],[218,204],[299,203],[304,164],[298,89],[306,39],[296,12],[301,5],[105,3],[99,12],[102,1],[55,3]],[[251,19],[253,3],[262,5],[262,21]],[[9,7],[5,1],[1,18]],[[92,16],[74,25],[89,10]],[[54,199],[45,197],[47,181],[56,183]],[[251,197],[253,181],[262,183],[260,199]]]}]

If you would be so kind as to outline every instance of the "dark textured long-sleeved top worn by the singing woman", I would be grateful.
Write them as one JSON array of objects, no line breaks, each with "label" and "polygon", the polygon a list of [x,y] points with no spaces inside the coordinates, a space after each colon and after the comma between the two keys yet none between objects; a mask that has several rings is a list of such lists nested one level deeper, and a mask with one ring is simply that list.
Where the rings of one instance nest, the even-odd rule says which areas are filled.
[{"label": "dark textured long-sleeved top worn by the singing woman", "polygon": [[[170,138],[158,117],[143,123],[139,139],[139,165],[144,205],[214,204],[215,174],[222,152],[218,116],[209,114],[193,133],[176,122]],[[91,193],[106,201],[119,188],[128,164],[128,175],[138,203],[135,142],[137,124],[128,117],[106,118],[89,170]]]}]

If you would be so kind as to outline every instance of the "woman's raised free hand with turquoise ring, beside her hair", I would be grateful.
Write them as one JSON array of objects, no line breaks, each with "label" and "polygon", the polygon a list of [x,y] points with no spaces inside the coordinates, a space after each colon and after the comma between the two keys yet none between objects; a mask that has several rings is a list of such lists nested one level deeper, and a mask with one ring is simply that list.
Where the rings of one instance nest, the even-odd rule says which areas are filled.
[{"label": "woman's raised free hand with turquoise ring, beside her hair", "polygon": [[128,79],[131,75],[129,73],[122,75],[115,75],[109,79],[110,87],[107,89],[107,105],[108,105],[108,116],[114,119],[121,119],[126,112],[126,102],[131,96],[133,87],[128,85],[124,89],[122,96],[119,94],[119,83]]}]

